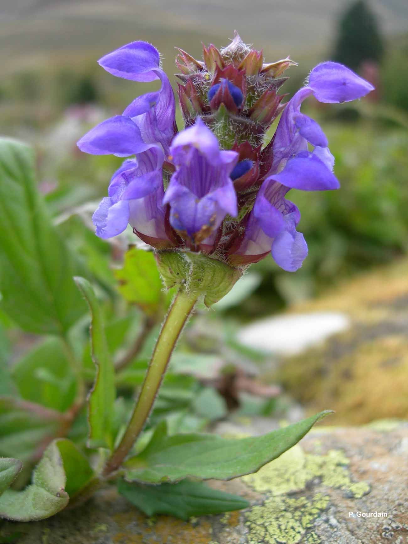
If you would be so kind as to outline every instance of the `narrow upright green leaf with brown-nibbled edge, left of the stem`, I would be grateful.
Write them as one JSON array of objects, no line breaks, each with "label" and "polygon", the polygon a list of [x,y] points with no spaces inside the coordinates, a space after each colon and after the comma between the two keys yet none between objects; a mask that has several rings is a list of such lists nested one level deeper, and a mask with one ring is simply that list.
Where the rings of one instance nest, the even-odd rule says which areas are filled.
[{"label": "narrow upright green leaf with brown-nibbled edge, left of the stem", "polygon": [[113,447],[113,406],[116,397],[115,369],[109,355],[102,312],[98,305],[94,289],[88,280],[76,277],[78,289],[88,302],[91,315],[91,351],[97,373],[94,387],[88,400],[89,448]]}]

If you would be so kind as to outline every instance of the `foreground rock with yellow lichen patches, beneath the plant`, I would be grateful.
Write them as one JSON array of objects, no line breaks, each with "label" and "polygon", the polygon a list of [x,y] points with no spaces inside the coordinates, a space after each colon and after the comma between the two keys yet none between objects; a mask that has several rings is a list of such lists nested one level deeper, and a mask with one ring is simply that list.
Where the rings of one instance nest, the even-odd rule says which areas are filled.
[{"label": "foreground rock with yellow lichen patches, beneath the plant", "polygon": [[[254,425],[237,432],[256,432]],[[33,523],[4,522],[17,544],[405,544],[408,424],[318,426],[256,474],[211,485],[250,508],[219,516],[147,518],[114,489],[77,510]],[[15,535],[15,540],[10,539]]]}]

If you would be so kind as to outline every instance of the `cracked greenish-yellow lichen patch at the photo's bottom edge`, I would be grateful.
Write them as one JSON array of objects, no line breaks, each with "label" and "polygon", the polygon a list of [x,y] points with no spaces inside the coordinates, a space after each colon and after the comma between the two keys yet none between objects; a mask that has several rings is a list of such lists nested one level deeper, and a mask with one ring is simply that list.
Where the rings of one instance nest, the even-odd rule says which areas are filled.
[{"label": "cracked greenish-yellow lichen patch at the photo's bottom edge", "polygon": [[[272,497],[262,506],[254,506],[246,514],[249,528],[248,544],[296,544],[301,542],[307,529],[329,505],[329,497],[315,494],[306,497]],[[312,539],[312,540],[310,540]],[[319,543],[311,531],[306,542]]]}]

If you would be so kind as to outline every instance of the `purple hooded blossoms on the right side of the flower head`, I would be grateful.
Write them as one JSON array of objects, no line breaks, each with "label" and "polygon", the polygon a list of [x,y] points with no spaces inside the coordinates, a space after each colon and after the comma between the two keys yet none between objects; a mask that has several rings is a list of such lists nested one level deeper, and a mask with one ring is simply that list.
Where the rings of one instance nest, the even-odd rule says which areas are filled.
[{"label": "purple hooded blossoms on the right side of the flower head", "polygon": [[[312,70],[308,85],[296,92],[282,113],[272,145],[273,163],[258,191],[242,243],[230,255],[231,263],[256,262],[270,250],[284,270],[292,272],[301,267],[307,245],[296,231],[300,212],[285,195],[291,188],[339,188],[327,138],[316,121],[300,113],[301,103],[310,95],[321,102],[349,101],[372,89],[341,64],[323,63]],[[308,144],[314,146],[313,151],[308,151]]]}]

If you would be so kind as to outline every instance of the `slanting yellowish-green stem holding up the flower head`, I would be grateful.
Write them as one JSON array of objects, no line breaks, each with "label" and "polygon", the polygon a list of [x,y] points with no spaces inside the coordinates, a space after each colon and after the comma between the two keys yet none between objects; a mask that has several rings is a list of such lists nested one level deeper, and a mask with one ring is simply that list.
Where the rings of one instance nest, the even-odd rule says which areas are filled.
[{"label": "slanting yellowish-green stem holding up the flower head", "polygon": [[125,459],[126,455],[132,449],[140,432],[143,431],[160,384],[162,383],[172,351],[190,313],[193,311],[196,301],[196,295],[191,295],[184,290],[180,290],[175,296],[169,313],[162,325],[162,330],[160,330],[131,420],[118,448],[116,448],[106,463],[103,471],[104,476],[109,475],[120,467],[123,459]]}]

